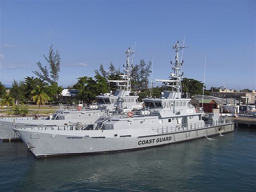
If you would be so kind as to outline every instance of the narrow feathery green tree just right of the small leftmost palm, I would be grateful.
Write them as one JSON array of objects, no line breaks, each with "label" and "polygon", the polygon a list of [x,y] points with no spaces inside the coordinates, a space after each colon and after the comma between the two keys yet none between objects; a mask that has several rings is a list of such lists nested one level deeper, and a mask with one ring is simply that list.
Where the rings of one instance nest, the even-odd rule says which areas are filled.
[{"label": "narrow feathery green tree just right of the small leftmost palm", "polygon": [[19,105],[20,101],[24,99],[25,87],[23,86],[23,82],[16,81],[15,79],[12,82],[12,88],[10,90],[10,95],[15,99],[15,105]]}]

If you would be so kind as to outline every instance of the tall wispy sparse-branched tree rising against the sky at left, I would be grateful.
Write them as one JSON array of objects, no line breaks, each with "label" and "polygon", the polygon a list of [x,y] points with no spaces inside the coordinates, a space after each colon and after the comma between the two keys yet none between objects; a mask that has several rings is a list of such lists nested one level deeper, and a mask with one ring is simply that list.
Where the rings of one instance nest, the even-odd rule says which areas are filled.
[{"label": "tall wispy sparse-branched tree rising against the sky at left", "polygon": [[47,81],[50,84],[56,83],[59,79],[58,73],[60,72],[61,65],[61,57],[58,53],[58,50],[55,53],[51,45],[49,48],[48,58],[45,55],[44,58],[49,64],[50,76],[47,66],[43,67],[40,61],[38,61],[36,64],[38,65],[41,72],[33,71],[33,73],[35,73],[35,75],[37,75],[40,79]]}]

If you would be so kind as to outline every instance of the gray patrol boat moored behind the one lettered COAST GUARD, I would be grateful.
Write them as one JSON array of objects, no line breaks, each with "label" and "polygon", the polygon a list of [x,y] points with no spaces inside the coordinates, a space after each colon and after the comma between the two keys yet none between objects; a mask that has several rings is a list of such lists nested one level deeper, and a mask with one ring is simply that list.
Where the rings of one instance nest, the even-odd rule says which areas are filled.
[{"label": "gray patrol boat moored behind the one lettered COAST GUARD", "polygon": [[126,64],[124,64],[124,75],[121,80],[109,80],[116,82],[118,88],[114,94],[104,93],[96,96],[97,103],[92,105],[84,105],[79,102],[79,105],[69,106],[64,108],[61,106],[53,115],[47,118],[40,117],[3,117],[0,118],[0,139],[11,140],[18,138],[13,128],[20,127],[49,127],[56,125],[86,125],[92,127],[93,123],[102,116],[105,111],[120,111],[123,113],[134,111],[143,108],[143,102],[139,102],[139,96],[136,92],[131,91],[131,69],[130,56],[134,54],[130,48],[125,51]]}]

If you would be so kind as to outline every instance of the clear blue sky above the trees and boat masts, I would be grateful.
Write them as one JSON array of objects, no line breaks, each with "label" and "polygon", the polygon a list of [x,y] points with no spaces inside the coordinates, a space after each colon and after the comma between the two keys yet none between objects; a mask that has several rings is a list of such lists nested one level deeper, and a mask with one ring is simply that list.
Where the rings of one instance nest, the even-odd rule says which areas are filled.
[{"label": "clear blue sky above the trees and boat masts", "polygon": [[36,77],[50,45],[63,87],[100,64],[122,70],[128,47],[133,64],[153,62],[153,81],[168,79],[172,45],[184,40],[184,77],[207,89],[256,89],[255,0],[0,0],[0,81]]}]

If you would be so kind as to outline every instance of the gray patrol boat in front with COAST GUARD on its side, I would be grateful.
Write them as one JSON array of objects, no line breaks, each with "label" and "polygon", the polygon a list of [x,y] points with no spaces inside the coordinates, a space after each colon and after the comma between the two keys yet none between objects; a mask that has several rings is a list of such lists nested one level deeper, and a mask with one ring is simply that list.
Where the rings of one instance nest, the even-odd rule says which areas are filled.
[{"label": "gray patrol boat in front with COAST GUARD on its side", "polygon": [[206,119],[203,108],[192,106],[189,94],[182,92],[183,62],[178,52],[184,47],[178,42],[173,45],[174,73],[170,73],[169,80],[158,80],[166,90],[160,98],[143,99],[145,107],[140,111],[105,113],[91,129],[50,126],[14,131],[36,157],[143,149],[233,131],[233,119],[214,113]]}]

